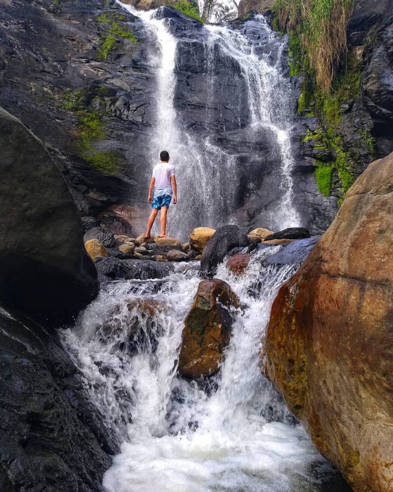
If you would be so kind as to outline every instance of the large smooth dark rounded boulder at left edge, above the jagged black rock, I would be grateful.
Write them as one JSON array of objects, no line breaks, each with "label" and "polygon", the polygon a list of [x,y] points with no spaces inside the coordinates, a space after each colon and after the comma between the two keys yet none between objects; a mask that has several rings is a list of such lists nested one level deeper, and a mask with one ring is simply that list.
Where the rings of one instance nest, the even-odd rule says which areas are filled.
[{"label": "large smooth dark rounded boulder at left edge, above the jagged black rock", "polygon": [[97,295],[74,200],[42,142],[0,108],[0,300],[61,323]]}]

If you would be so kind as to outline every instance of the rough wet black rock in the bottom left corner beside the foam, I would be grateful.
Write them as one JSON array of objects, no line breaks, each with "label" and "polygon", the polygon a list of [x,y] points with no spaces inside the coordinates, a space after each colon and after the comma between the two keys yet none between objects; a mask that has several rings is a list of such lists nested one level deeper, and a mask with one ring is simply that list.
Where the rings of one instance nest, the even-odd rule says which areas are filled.
[{"label": "rough wet black rock in the bottom left corner beside the foam", "polygon": [[101,492],[119,443],[55,333],[0,305],[0,490]]}]

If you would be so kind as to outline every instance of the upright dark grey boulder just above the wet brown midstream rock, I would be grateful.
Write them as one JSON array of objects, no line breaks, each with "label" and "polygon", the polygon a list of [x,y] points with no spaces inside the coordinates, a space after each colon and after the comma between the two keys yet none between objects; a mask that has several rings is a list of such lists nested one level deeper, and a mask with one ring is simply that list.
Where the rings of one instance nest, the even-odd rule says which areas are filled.
[{"label": "upright dark grey boulder just above the wet brown midstream rock", "polygon": [[250,243],[246,234],[237,226],[224,226],[215,231],[207,241],[202,252],[201,270],[208,275],[214,275],[217,265],[233,248],[246,247]]}]

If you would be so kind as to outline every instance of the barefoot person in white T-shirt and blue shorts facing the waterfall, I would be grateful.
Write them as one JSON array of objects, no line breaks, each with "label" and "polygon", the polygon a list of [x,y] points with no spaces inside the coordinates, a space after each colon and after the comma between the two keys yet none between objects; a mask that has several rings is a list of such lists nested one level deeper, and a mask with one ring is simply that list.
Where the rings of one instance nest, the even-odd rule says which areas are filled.
[{"label": "barefoot person in white T-shirt and blue shorts facing the waterfall", "polygon": [[[166,216],[168,208],[172,200],[173,203],[177,203],[177,185],[176,185],[176,173],[174,167],[169,164],[169,154],[166,150],[160,153],[160,161],[153,169],[153,175],[149,186],[149,196],[147,201],[151,203],[151,214],[147,221],[147,231],[145,239],[150,238],[151,228],[156,220],[158,211],[161,210],[161,232],[160,237],[168,237],[166,234]],[[153,197],[154,190],[154,197]]]}]

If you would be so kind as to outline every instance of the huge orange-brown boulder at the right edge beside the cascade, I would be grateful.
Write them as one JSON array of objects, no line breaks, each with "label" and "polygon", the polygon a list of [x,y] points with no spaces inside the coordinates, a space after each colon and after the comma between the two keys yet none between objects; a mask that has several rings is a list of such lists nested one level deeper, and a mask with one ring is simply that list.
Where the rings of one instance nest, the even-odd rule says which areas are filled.
[{"label": "huge orange-brown boulder at the right edge beside the cascade", "polygon": [[347,192],[280,289],[267,372],[356,492],[393,484],[393,154]]}]

